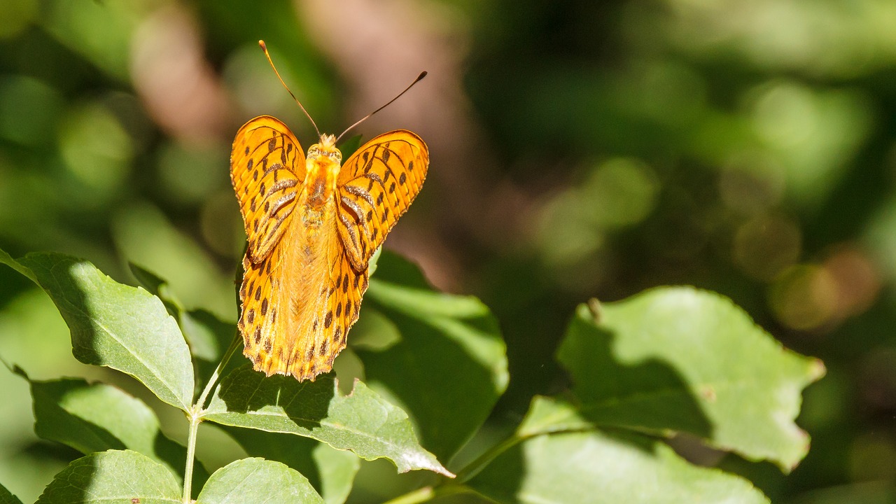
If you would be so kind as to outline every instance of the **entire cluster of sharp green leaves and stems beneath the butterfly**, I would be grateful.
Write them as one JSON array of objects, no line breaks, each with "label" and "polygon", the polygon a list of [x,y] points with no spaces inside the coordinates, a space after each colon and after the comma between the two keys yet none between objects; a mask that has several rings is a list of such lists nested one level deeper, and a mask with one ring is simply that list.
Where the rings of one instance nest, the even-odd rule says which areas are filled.
[{"label": "entire cluster of sharp green leaves and stems beneath the butterfly", "polygon": [[[536,396],[503,436],[487,419],[508,383],[498,322],[479,300],[435,291],[383,253],[346,354],[359,378],[265,378],[234,356],[235,327],[185,308],[164,279],[143,287],[59,254],[0,262],[37,283],[71,330],[73,354],[129,375],[190,421],[186,446],[142,400],[80,378],[29,380],[35,431],[84,454],[40,503],[319,502],[348,497],[361,460],[433,475],[393,504],[767,502],[751,482],[694,464],[676,439],[788,472],[806,455],[794,419],[820,361],[784,349],[729,300],[659,288],[576,308],[557,352],[571,387]],[[341,378],[341,379],[340,379]],[[249,457],[194,460],[208,421]],[[0,503],[19,502],[0,486]]]}]

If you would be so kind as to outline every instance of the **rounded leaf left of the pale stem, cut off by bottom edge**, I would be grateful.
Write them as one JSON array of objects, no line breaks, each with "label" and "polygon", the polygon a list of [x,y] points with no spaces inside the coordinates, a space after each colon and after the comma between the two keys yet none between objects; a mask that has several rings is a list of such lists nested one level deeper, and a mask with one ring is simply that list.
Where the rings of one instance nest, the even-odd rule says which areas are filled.
[{"label": "rounded leaf left of the pale stem, cut off by bottom edge", "polygon": [[110,450],[69,464],[37,504],[180,504],[180,491],[164,465],[135,451]]}]

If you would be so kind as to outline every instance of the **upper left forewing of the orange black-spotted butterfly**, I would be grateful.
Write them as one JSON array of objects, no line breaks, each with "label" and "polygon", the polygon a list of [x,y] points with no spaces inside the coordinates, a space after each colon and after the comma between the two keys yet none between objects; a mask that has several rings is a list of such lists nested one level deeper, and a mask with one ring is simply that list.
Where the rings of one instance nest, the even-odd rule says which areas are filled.
[{"label": "upper left forewing of the orange black-spotted butterfly", "polygon": [[289,228],[305,181],[305,153],[279,119],[255,117],[233,141],[230,180],[246,224],[248,256],[258,264]]}]

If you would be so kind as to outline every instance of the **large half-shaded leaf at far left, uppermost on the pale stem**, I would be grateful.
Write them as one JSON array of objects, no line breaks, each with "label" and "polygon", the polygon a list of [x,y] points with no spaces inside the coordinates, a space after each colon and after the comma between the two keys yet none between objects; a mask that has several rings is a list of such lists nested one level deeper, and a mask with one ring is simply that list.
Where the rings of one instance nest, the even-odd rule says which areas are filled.
[{"label": "large half-shaded leaf at far left, uppermost on the pale stem", "polygon": [[29,254],[0,262],[47,292],[72,333],[75,358],[140,380],[162,401],[187,410],[194,378],[190,352],[159,298],[118,283],[82,259]]}]

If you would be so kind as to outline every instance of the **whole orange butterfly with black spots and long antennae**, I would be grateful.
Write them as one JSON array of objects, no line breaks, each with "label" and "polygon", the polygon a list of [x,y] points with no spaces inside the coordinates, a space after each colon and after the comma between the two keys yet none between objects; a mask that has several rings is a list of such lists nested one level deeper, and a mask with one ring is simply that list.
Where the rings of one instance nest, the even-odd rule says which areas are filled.
[{"label": "whole orange butterfly with black spots and long antennae", "polygon": [[370,257],[426,178],[426,143],[407,130],[375,137],[341,165],[337,140],[320,135],[306,157],[286,125],[261,116],[233,142],[230,178],[249,242],[237,325],[246,357],[268,376],[314,380],[332,369],[358,320]]}]

